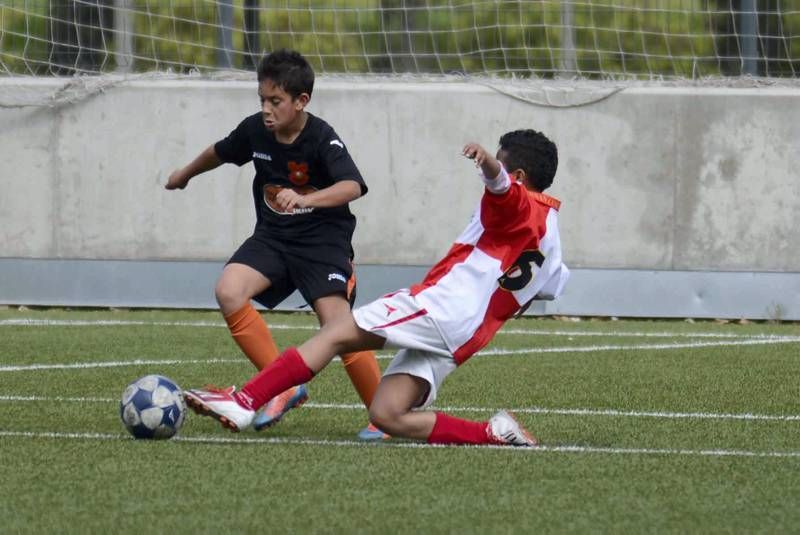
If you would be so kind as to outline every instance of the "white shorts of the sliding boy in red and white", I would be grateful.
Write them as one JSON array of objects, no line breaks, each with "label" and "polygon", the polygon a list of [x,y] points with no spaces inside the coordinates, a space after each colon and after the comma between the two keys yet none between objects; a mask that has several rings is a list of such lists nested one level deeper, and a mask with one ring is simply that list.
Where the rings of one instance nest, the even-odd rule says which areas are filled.
[{"label": "white shorts of the sliding boy in red and white", "polygon": [[430,390],[422,406],[433,403],[456,361],[438,327],[408,290],[384,295],[353,311],[356,324],[386,338],[385,347],[401,350],[384,375],[408,374],[424,379]]}]

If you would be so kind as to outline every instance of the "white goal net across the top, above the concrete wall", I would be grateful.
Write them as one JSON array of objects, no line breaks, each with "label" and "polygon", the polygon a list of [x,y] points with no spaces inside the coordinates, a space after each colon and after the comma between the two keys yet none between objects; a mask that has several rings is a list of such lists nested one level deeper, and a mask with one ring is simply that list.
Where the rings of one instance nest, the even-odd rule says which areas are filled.
[{"label": "white goal net across the top, above the concrete wall", "polygon": [[[10,76],[322,75],[792,83],[797,0],[2,0]],[[113,79],[113,76],[112,76]]]}]

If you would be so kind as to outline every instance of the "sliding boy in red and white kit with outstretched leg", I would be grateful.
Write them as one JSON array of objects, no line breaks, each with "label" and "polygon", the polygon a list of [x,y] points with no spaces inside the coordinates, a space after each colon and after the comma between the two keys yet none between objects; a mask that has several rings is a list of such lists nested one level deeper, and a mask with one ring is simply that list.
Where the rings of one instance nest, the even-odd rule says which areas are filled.
[{"label": "sliding boy in red and white kit with outstretched leg", "polygon": [[474,422],[414,410],[432,403],[444,378],[503,323],[534,299],[558,296],[569,277],[561,261],[560,202],[542,193],[558,165],[555,144],[534,130],[517,130],[500,138],[496,158],[475,143],[463,154],[480,168],[486,188],[467,228],[420,284],[325,325],[241,391],[186,391],[189,406],[239,431],[260,406],[311,380],[335,355],[398,347],[369,408],[378,428],[431,444],[535,446],[536,439],[505,411]]}]

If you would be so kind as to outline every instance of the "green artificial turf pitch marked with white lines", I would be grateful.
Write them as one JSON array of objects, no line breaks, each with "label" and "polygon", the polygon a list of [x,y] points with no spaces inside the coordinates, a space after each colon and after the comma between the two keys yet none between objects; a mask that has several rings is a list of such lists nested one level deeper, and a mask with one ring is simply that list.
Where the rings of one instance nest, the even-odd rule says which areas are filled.
[{"label": "green artificial turf pitch marked with white lines", "polygon": [[[316,328],[264,317],[282,347]],[[218,313],[0,310],[0,532],[792,532],[799,350],[797,324],[526,318],[436,406],[515,410],[541,448],[359,443],[338,361],[266,432],[189,414],[178,439],[137,441],[128,382],[253,373]]]}]

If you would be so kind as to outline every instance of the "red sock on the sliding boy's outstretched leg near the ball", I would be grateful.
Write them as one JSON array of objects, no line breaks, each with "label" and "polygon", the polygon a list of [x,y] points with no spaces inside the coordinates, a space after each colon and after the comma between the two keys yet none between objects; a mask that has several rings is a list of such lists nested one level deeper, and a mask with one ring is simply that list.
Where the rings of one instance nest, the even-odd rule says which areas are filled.
[{"label": "red sock on the sliding boy's outstretched leg near the ball", "polygon": [[297,348],[290,347],[250,379],[234,397],[242,406],[257,410],[287,388],[307,383],[313,377],[314,372],[306,366]]}]

